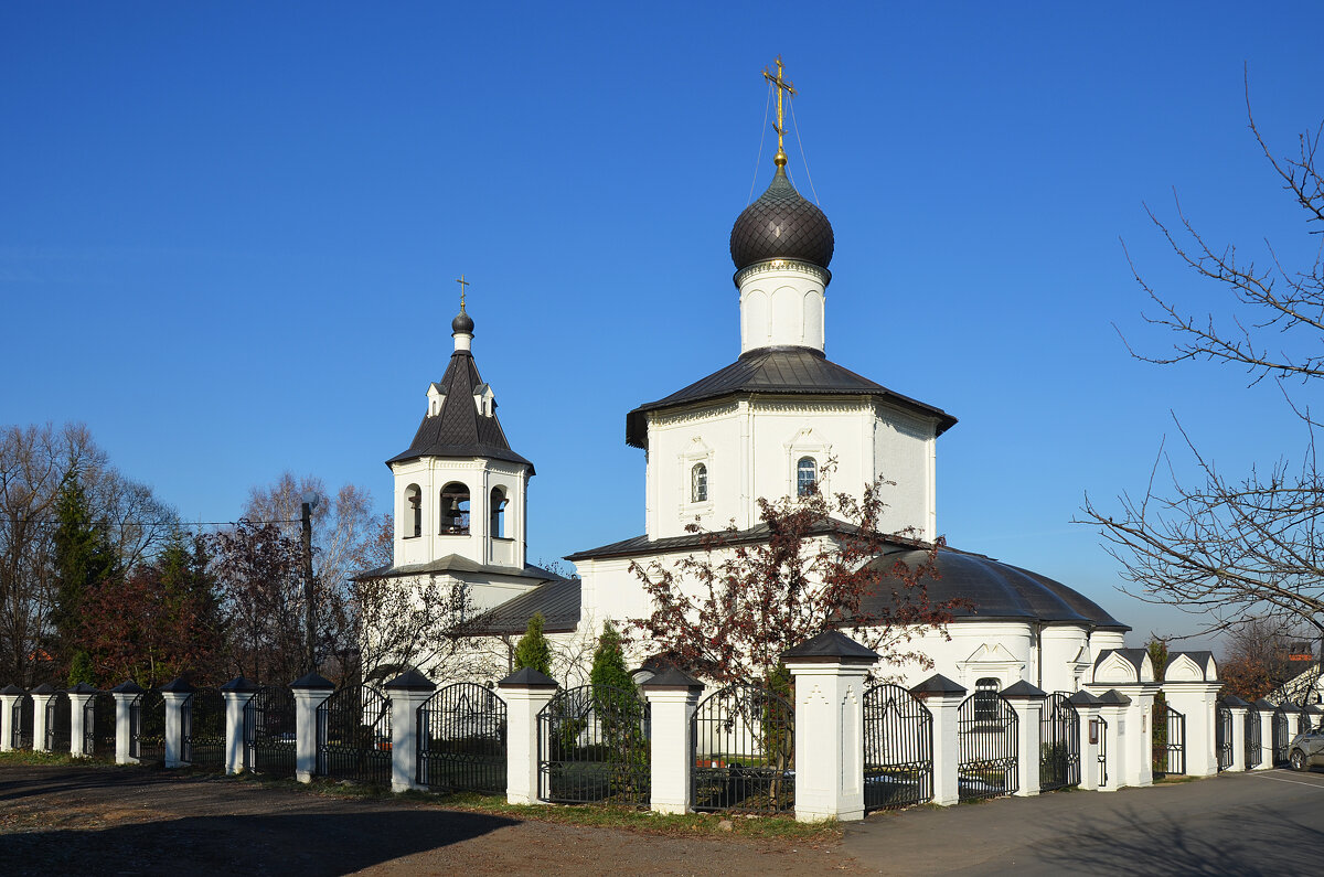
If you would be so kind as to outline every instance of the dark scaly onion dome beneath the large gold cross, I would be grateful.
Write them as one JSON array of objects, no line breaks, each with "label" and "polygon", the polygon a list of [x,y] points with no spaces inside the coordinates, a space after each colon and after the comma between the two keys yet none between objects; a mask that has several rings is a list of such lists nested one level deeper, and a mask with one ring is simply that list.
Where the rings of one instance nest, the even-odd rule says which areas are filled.
[{"label": "dark scaly onion dome beneath the large gold cross", "polygon": [[759,200],[731,227],[731,261],[741,270],[769,258],[794,258],[820,268],[831,261],[831,223],[801,197],[782,167]]}]

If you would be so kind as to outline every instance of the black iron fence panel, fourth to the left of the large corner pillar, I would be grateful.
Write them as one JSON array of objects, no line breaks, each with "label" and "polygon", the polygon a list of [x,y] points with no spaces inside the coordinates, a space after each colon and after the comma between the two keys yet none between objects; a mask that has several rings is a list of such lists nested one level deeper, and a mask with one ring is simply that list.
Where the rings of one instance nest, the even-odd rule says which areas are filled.
[{"label": "black iron fence panel, fourth to the left of the large corner pillar", "polygon": [[355,685],[322,701],[318,774],[391,784],[391,698],[371,685]]}]

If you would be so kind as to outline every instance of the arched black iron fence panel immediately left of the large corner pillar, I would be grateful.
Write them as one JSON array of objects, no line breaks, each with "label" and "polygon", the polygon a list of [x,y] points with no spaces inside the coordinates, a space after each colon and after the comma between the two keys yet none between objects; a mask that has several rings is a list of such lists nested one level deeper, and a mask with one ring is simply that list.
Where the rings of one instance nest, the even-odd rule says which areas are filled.
[{"label": "arched black iron fence panel immediately left of the large corner pillar", "polygon": [[796,709],[776,692],[736,682],[694,713],[694,808],[781,813],[796,808]]}]

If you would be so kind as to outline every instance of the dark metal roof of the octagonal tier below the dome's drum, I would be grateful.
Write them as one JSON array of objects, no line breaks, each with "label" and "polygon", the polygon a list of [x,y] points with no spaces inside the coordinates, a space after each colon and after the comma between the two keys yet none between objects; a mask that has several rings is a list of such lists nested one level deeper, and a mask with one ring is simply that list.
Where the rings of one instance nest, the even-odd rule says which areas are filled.
[{"label": "dark metal roof of the octagonal tier below the dome's drum", "polygon": [[870,396],[937,421],[936,435],[956,424],[956,417],[941,408],[892,392],[882,384],[857,375],[828,359],[812,347],[760,347],[685,389],[639,405],[625,416],[625,441],[647,448],[647,412],[722,399],[735,393],[771,393],[805,396]]}]

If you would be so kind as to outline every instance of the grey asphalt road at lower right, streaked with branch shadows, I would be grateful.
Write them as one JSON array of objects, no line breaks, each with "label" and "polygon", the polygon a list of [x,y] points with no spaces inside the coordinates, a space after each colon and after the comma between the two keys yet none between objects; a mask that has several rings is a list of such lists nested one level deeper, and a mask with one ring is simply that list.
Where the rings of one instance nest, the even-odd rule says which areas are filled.
[{"label": "grey asphalt road at lower right, streaked with branch shadows", "polygon": [[1319,874],[1324,771],[876,813],[843,852],[884,874]]}]

